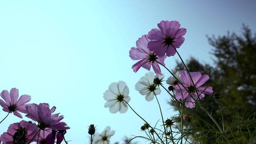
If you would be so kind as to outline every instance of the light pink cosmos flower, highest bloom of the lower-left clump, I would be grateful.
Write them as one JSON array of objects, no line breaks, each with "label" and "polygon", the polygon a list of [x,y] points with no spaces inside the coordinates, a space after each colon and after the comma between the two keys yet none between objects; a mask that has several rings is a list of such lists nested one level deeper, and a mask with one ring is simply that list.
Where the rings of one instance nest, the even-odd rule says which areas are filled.
[{"label": "light pink cosmos flower, highest bloom of the lower-left clump", "polygon": [[22,118],[21,114],[22,113],[27,113],[26,111],[26,106],[27,102],[30,101],[31,97],[29,95],[22,95],[18,99],[18,89],[12,88],[10,90],[10,93],[8,90],[3,90],[1,92],[1,97],[4,99],[0,99],[0,105],[3,107],[3,111],[12,113],[17,116]]}]

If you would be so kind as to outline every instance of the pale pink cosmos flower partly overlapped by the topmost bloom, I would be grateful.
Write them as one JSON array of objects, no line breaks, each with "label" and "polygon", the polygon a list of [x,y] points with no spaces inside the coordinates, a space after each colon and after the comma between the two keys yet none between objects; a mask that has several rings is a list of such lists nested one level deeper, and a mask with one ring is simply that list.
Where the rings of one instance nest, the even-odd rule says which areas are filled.
[{"label": "pale pink cosmos flower partly overlapped by the topmost bloom", "polygon": [[157,60],[159,63],[165,65],[164,61],[166,56],[157,56],[147,48],[147,43],[150,42],[147,35],[143,35],[140,37],[136,42],[136,47],[132,47],[129,56],[132,60],[140,60],[132,66],[133,72],[137,72],[140,67],[143,67],[150,71],[151,66],[156,74],[161,74],[160,67],[158,63],[155,61]]}]

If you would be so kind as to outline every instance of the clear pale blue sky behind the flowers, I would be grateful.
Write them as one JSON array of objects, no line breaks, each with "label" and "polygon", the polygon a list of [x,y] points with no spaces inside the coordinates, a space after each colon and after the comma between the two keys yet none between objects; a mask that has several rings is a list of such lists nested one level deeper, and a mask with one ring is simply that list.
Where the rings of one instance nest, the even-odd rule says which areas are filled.
[{"label": "clear pale blue sky behind the flowers", "polygon": [[[134,88],[147,72],[134,73],[130,47],[161,20],[178,20],[187,29],[178,51],[212,63],[206,35],[241,32],[242,23],[256,30],[255,0],[2,0],[0,1],[0,90],[19,89],[32,103],[56,106],[71,127],[70,144],[86,144],[87,127],[116,131],[111,142],[124,135],[142,135],[143,122],[128,109],[110,114],[103,92],[111,82],[126,81],[130,105],[149,123],[160,118],[156,100],[147,102]],[[167,58],[174,68],[177,56]],[[165,76],[170,76],[164,71]],[[174,115],[162,92],[164,117]],[[0,111],[0,119],[6,116]],[[10,115],[0,134],[21,119]]]}]

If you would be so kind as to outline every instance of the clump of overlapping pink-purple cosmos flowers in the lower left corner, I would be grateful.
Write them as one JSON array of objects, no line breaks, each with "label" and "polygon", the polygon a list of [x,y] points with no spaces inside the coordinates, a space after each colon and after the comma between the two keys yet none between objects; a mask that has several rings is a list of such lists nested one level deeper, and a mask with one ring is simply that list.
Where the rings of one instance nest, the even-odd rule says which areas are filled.
[{"label": "clump of overlapping pink-purple cosmos flowers in the lower left corner", "polygon": [[20,113],[24,113],[26,117],[31,119],[31,121],[21,120],[18,123],[10,124],[7,132],[0,136],[0,143],[61,144],[69,127],[66,123],[61,122],[63,116],[60,116],[59,113],[54,114],[56,107],[50,108],[47,103],[30,104],[28,102],[31,97],[29,95],[19,97],[16,88],[12,88],[10,91],[3,90],[0,95],[3,99],[0,99],[0,106],[3,111],[8,113],[7,116],[13,113],[22,118]]}]

